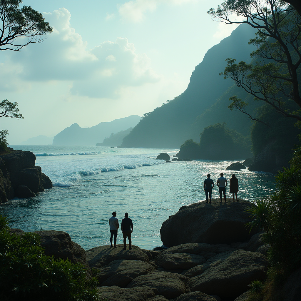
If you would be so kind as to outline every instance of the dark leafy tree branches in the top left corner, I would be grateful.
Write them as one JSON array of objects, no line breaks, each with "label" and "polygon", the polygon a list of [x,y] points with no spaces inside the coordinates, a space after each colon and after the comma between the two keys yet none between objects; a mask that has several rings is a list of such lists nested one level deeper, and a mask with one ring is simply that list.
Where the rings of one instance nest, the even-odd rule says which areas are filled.
[{"label": "dark leafy tree branches in the top left corner", "polygon": [[0,50],[20,51],[29,43],[42,42],[52,28],[41,13],[22,0],[0,0]]}]

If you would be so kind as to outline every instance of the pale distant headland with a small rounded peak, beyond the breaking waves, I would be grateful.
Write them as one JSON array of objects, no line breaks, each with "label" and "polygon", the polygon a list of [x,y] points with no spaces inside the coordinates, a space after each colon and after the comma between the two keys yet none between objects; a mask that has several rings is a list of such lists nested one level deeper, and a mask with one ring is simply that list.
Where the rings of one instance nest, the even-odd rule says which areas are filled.
[{"label": "pale distant headland with a small rounded peak, beyond the breaking waves", "polygon": [[103,141],[105,137],[111,133],[117,133],[134,127],[141,119],[138,115],[131,115],[125,118],[115,119],[110,122],[101,122],[91,128],[81,128],[77,123],[73,123],[54,138],[52,144],[61,145],[95,145],[99,141]]}]

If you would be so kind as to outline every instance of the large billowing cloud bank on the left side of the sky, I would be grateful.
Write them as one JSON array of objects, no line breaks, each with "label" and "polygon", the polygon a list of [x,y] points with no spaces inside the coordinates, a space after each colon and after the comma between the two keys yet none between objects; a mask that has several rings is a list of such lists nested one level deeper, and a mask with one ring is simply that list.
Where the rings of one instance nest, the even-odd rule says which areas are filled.
[{"label": "large billowing cloud bank on the left side of the sky", "polygon": [[[29,45],[21,52],[5,53],[0,62],[0,89],[15,89],[13,82],[71,81],[70,93],[95,98],[118,98],[125,86],[156,82],[160,77],[151,68],[146,54],[137,54],[134,44],[118,37],[87,50],[87,43],[70,26],[65,8],[44,14],[53,33],[44,42]],[[8,73],[9,73],[8,72]],[[14,80],[13,80],[14,79]]]}]

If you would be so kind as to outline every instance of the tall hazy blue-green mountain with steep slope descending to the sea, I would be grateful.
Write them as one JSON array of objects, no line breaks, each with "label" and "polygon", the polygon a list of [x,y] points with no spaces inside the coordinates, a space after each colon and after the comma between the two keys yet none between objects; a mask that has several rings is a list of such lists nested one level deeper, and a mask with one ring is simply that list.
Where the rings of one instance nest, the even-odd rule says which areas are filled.
[{"label": "tall hazy blue-green mountain with steep slope descending to the sea", "polygon": [[[250,123],[247,123],[247,116],[227,108],[229,97],[233,94],[227,96],[228,99],[226,96],[220,98],[234,83],[229,79],[223,79],[219,73],[224,71],[227,65],[225,59],[228,57],[250,63],[250,53],[255,47],[248,45],[248,42],[254,37],[254,33],[255,30],[251,26],[242,24],[229,37],[209,49],[203,61],[191,74],[187,89],[174,100],[157,107],[141,119],[132,132],[123,139],[121,147],[178,148],[187,139],[194,138],[199,141],[203,128],[216,123],[210,118],[207,118],[206,123],[197,119],[206,110],[209,110],[206,113],[208,117],[224,114],[226,120],[218,120],[218,122],[226,122],[230,129],[240,127],[237,123],[229,122],[229,119],[238,116],[239,120],[248,124],[247,131],[249,131]],[[218,99],[221,103],[213,108]]]}]

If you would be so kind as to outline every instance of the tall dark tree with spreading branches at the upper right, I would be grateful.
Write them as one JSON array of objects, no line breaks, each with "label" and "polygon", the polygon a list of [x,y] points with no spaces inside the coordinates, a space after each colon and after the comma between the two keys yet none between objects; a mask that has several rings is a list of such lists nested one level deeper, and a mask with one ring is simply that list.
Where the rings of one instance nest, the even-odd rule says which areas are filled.
[{"label": "tall dark tree with spreading branches at the upper right", "polygon": [[[236,64],[235,59],[228,58],[227,67],[220,74],[233,79],[255,100],[264,101],[283,116],[300,122],[301,17],[293,6],[282,0],[227,0],[216,10],[211,8],[208,14],[226,24],[248,24],[257,29],[255,38],[249,42],[256,47],[251,53],[256,63]],[[236,20],[238,16],[243,20]],[[299,108],[288,110],[288,99]],[[256,120],[246,112],[247,103],[235,96],[230,100],[230,109]]]}]

